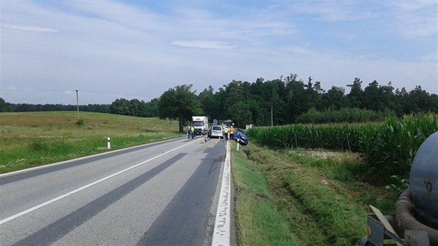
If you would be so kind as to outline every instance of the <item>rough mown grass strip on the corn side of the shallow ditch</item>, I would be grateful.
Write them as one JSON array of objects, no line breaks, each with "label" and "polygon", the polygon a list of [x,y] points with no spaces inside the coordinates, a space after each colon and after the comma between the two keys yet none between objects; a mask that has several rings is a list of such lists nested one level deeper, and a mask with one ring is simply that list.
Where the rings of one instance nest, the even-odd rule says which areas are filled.
[{"label": "rough mown grass strip on the corn side of the shallow ditch", "polygon": [[297,199],[317,222],[327,238],[327,245],[355,245],[363,236],[366,213],[341,190],[331,186],[321,173],[312,168],[287,161],[277,152],[254,148],[250,158],[282,180],[284,188]]}]

